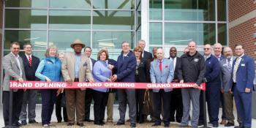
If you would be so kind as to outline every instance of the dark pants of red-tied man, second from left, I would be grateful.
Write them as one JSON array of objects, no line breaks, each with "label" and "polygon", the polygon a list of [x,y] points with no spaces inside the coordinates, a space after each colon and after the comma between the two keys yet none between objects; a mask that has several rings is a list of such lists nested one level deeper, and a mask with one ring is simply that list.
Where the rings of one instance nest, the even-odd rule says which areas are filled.
[{"label": "dark pants of red-tied man, second from left", "polygon": [[[23,94],[23,105],[20,112],[20,121],[26,121],[28,115],[29,121],[33,121],[36,118],[36,105],[37,105],[37,90],[28,89]],[[28,113],[26,111],[28,108]]]}]

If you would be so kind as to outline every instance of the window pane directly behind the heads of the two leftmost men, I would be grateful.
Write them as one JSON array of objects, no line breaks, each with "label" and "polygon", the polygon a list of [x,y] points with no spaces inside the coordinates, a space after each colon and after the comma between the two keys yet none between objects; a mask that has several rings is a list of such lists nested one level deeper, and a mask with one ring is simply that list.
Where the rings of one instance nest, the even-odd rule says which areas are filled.
[{"label": "window pane directly behind the heads of the two leftmost men", "polygon": [[4,33],[4,50],[9,50],[12,42],[20,42],[20,49],[26,42],[31,42],[34,50],[45,50],[47,47],[46,31],[6,30]]}]

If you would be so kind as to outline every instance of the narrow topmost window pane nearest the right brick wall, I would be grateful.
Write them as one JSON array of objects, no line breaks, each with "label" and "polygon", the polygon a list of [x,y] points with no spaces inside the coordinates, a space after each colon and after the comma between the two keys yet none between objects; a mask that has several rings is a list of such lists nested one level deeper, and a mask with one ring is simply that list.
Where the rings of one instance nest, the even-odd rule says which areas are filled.
[{"label": "narrow topmost window pane nearest the right brick wall", "polygon": [[218,20],[226,21],[227,20],[227,12],[226,12],[226,0],[218,0]]}]

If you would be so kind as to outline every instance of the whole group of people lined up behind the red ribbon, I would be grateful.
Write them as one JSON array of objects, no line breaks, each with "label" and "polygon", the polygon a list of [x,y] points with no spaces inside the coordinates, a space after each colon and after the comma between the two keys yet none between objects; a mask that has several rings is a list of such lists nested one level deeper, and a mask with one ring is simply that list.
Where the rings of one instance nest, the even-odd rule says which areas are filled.
[{"label": "whole group of people lined up behind the red ribbon", "polygon": [[[113,122],[113,103],[118,97],[119,116],[116,125],[125,124],[127,104],[130,127],[144,123],[151,116],[152,127],[170,127],[170,121],[180,123],[179,127],[196,128],[203,125],[203,105],[207,102],[208,120],[213,127],[219,127],[219,104],[222,104],[222,121],[225,127],[234,126],[233,98],[238,113],[238,127],[252,125],[252,91],[255,77],[254,60],[244,54],[243,45],[236,45],[236,57],[232,49],[219,43],[204,45],[203,55],[197,51],[195,41],[188,43],[181,57],[177,49],[170,48],[170,57],[165,59],[162,48],[154,47],[152,53],[144,50],[146,42],[138,41],[138,46],[131,50],[129,42],[121,43],[121,54],[117,61],[110,59],[108,49],[102,48],[97,53],[97,61],[91,59],[91,48],[76,39],[70,47],[70,53],[59,53],[56,46],[50,46],[45,52],[45,59],[39,61],[32,55],[32,45],[23,45],[25,54],[19,56],[20,44],[12,42],[11,52],[4,56],[3,111],[4,125],[12,117],[12,126],[26,125],[27,106],[29,124],[35,121],[37,90],[10,89],[10,80],[41,80],[50,82],[122,82],[122,83],[194,83],[192,88],[182,89],[42,89],[42,127],[50,127],[54,104],[58,122],[62,119],[67,126],[83,127],[83,121],[94,121],[95,125]],[[86,48],[85,48],[86,47]],[[84,48],[84,53],[82,50]],[[203,102],[201,83],[206,83],[206,102]],[[10,99],[10,91],[13,93]],[[116,92],[116,93],[115,93]],[[94,100],[94,120],[89,118],[91,100]],[[145,108],[146,100],[150,100]],[[13,105],[10,107],[9,101]],[[190,113],[192,102],[192,116]],[[64,104],[64,105],[63,105]],[[63,118],[61,108],[63,107]],[[12,109],[12,115],[9,109]],[[145,110],[148,109],[148,110]],[[149,111],[146,113],[145,111]],[[162,115],[162,118],[161,118]],[[21,123],[19,123],[19,121]]]}]

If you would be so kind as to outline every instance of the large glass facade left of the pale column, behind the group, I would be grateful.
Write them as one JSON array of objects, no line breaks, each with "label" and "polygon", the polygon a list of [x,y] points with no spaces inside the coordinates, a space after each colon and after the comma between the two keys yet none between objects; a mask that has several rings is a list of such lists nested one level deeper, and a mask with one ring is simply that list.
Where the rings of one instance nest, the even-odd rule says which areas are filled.
[{"label": "large glass facade left of the pale column, behind the group", "polygon": [[135,0],[8,0],[4,4],[4,53],[13,41],[31,42],[42,59],[48,45],[72,51],[75,39],[92,48],[110,49],[117,59],[121,42],[135,45],[140,34],[140,1]]}]

